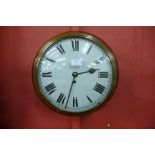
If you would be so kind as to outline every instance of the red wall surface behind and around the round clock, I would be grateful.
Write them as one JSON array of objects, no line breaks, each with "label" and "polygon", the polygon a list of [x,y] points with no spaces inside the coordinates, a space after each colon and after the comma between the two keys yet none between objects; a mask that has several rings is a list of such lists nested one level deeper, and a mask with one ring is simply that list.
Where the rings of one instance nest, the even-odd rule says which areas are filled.
[{"label": "red wall surface behind and around the round clock", "polygon": [[[69,30],[99,36],[119,65],[113,97],[81,117],[49,109],[32,84],[38,49]],[[0,27],[0,55],[0,128],[155,128],[155,27]]]}]

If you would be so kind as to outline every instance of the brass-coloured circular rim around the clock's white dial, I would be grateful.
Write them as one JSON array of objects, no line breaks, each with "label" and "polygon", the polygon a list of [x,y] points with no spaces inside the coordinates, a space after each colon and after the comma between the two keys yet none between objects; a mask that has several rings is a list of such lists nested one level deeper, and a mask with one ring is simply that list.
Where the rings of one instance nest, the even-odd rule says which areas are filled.
[{"label": "brass-coloured circular rim around the clock's white dial", "polygon": [[[37,73],[38,73],[38,66],[39,66],[39,62],[44,54],[44,52],[47,50],[47,48],[49,46],[51,46],[52,44],[56,43],[59,40],[62,40],[64,38],[70,38],[70,37],[80,37],[80,38],[86,38],[89,39],[90,41],[94,42],[95,44],[97,44],[98,46],[100,46],[102,49],[104,49],[104,51],[107,53],[107,55],[109,56],[109,59],[111,61],[111,65],[112,65],[112,84],[111,84],[111,88],[106,96],[106,99],[104,100],[104,102],[100,102],[100,104],[98,104],[97,106],[95,106],[93,109],[87,110],[87,111],[83,111],[83,112],[67,112],[67,111],[63,111],[58,109],[57,107],[55,107],[54,105],[50,104],[48,102],[48,100],[44,97],[44,95],[41,93],[39,86],[38,86],[38,78],[37,78]],[[88,114],[90,112],[96,111],[97,109],[101,108],[103,105],[105,105],[107,103],[107,101],[112,97],[114,90],[116,89],[116,85],[117,85],[117,81],[118,81],[118,65],[117,65],[117,61],[116,58],[111,50],[111,48],[104,42],[102,41],[100,38],[98,38],[95,35],[92,35],[90,33],[87,32],[82,32],[82,31],[69,31],[69,32],[64,32],[61,33],[53,38],[51,38],[50,40],[48,40],[43,46],[42,48],[39,50],[39,53],[37,53],[37,56],[34,60],[33,63],[33,73],[32,73],[32,80],[33,80],[33,84],[34,87],[38,93],[38,95],[40,96],[40,98],[42,99],[42,101],[44,103],[46,103],[50,108],[52,108],[54,111],[56,112],[60,112],[63,114],[67,114],[67,115],[83,115],[83,114]]]}]

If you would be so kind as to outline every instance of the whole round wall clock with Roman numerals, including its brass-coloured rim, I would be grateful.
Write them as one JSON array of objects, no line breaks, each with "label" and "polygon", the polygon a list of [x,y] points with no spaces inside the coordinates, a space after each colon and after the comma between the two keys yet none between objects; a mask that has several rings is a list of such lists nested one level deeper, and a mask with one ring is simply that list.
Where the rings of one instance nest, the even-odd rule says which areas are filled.
[{"label": "whole round wall clock with Roman numerals, including its brass-coloured rim", "polygon": [[81,114],[103,105],[117,82],[111,50],[81,32],[48,41],[34,62],[33,80],[41,98],[63,113]]}]

